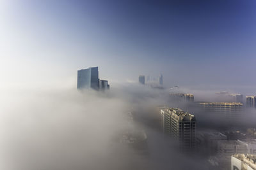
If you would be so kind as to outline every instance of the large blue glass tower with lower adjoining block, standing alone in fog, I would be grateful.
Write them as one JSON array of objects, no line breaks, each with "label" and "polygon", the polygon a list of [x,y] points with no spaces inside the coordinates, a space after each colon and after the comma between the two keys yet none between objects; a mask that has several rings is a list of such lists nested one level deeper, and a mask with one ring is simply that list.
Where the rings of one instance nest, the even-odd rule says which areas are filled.
[{"label": "large blue glass tower with lower adjoining block, standing alone in fog", "polygon": [[109,84],[108,80],[99,79],[98,67],[90,67],[77,71],[77,89],[106,90]]}]

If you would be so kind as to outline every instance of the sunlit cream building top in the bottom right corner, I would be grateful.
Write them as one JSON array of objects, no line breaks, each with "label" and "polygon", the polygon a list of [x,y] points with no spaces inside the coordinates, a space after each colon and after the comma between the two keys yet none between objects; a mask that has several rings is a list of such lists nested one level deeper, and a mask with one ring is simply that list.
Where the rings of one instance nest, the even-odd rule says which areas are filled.
[{"label": "sunlit cream building top in the bottom right corner", "polygon": [[231,157],[231,170],[255,170],[256,155],[235,154]]}]

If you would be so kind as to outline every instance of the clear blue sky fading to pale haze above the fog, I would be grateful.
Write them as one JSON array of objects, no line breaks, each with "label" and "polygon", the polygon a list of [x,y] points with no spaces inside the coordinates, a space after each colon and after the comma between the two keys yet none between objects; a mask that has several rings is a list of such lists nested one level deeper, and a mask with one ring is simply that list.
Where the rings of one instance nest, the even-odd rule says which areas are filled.
[{"label": "clear blue sky fading to pale haze above the fog", "polygon": [[0,1],[2,87],[76,87],[78,69],[164,85],[255,84],[255,1]]}]

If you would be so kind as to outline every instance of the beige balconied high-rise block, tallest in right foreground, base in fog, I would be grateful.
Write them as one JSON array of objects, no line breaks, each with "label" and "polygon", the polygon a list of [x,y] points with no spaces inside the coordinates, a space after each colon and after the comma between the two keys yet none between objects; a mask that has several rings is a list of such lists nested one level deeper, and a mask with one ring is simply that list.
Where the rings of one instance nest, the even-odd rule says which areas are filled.
[{"label": "beige balconied high-rise block, tallest in right foreground, base in fog", "polygon": [[164,108],[161,109],[161,126],[166,134],[179,139],[183,149],[195,147],[196,119],[194,115],[179,108]]}]

